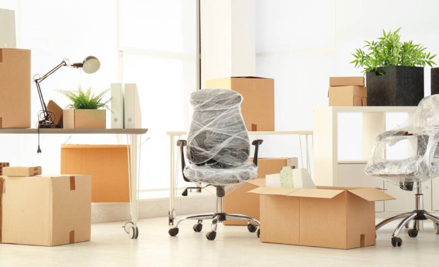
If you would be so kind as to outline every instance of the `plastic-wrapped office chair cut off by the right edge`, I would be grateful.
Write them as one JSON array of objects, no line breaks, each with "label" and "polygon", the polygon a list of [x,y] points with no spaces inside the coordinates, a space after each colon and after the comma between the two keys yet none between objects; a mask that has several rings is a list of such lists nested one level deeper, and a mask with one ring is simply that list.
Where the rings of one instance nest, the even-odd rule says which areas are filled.
[{"label": "plastic-wrapped office chair cut off by the right edge", "polygon": [[[401,140],[411,141],[415,155],[399,160],[385,159],[386,149]],[[414,211],[392,216],[376,225],[378,230],[391,221],[403,218],[392,234],[394,247],[402,245],[398,234],[404,226],[408,228],[411,220],[414,220],[414,225],[408,230],[410,237],[415,238],[418,232],[423,230],[423,221],[427,219],[434,222],[436,234],[439,234],[439,215],[424,210],[421,187],[422,182],[439,176],[438,140],[439,95],[425,97],[404,127],[384,132],[376,138],[372,158],[365,168],[366,173],[399,185],[403,190],[412,191],[414,188],[417,190]]]}]

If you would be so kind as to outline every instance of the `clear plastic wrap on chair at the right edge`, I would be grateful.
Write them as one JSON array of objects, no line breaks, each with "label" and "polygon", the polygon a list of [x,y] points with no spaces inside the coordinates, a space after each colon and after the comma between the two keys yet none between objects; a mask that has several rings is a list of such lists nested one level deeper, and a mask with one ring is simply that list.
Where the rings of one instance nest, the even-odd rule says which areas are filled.
[{"label": "clear plastic wrap on chair at the right edge", "polygon": [[[377,136],[365,172],[413,190],[416,182],[439,176],[439,95],[425,97],[407,122],[398,129]],[[386,151],[407,140],[408,157],[387,159]]]}]

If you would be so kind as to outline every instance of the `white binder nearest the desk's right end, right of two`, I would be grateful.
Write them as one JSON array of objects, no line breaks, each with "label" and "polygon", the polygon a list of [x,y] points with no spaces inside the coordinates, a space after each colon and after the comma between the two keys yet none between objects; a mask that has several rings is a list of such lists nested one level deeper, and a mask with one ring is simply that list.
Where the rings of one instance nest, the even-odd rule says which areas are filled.
[{"label": "white binder nearest the desk's right end, right of two", "polygon": [[135,83],[125,83],[124,121],[126,129],[142,128],[142,112],[140,110],[139,93]]}]

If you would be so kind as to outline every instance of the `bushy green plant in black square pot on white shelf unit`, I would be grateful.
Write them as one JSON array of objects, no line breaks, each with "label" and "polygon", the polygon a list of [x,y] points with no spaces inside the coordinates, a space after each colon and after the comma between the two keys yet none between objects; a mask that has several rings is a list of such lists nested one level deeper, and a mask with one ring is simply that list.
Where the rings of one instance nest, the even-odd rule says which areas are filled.
[{"label": "bushy green plant in black square pot on white shelf unit", "polygon": [[436,65],[426,47],[401,42],[400,31],[382,31],[376,41],[365,41],[352,55],[351,64],[364,68],[368,106],[417,106],[424,98],[424,67]]}]

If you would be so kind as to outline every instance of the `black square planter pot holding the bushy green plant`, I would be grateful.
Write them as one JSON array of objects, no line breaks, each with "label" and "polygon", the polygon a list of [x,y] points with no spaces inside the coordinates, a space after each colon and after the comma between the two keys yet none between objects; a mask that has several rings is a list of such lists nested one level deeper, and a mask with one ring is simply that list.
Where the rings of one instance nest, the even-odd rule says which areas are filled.
[{"label": "black square planter pot holding the bushy green plant", "polygon": [[368,106],[417,106],[424,98],[424,68],[379,67],[366,73]]}]

